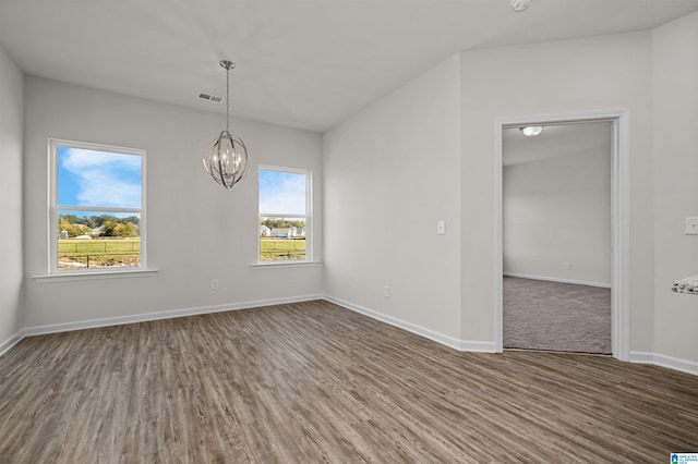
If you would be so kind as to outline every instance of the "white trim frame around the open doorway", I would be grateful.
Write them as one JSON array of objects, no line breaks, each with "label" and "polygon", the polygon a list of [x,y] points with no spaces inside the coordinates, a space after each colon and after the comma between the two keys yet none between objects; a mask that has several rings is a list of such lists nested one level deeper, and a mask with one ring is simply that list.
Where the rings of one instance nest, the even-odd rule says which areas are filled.
[{"label": "white trim frame around the open doorway", "polygon": [[497,118],[494,122],[495,220],[495,351],[504,351],[503,130],[521,125],[580,122],[612,123],[611,155],[611,352],[619,361],[630,356],[629,284],[629,111],[609,110],[538,117]]}]

